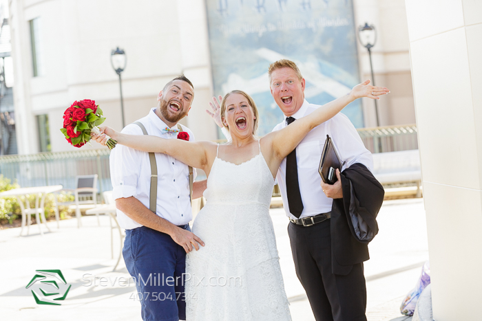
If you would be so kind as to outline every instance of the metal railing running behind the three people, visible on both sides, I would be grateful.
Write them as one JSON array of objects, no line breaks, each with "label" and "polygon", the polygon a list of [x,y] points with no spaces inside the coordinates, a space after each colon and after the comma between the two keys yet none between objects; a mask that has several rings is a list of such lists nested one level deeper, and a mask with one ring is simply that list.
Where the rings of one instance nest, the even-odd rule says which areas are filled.
[{"label": "metal railing running behind the three people, visible on both sides", "polygon": [[[358,129],[372,153],[417,149],[417,126]],[[77,175],[98,175],[98,191],[112,190],[108,149],[0,156],[0,174],[21,187],[63,185],[75,188]]]}]

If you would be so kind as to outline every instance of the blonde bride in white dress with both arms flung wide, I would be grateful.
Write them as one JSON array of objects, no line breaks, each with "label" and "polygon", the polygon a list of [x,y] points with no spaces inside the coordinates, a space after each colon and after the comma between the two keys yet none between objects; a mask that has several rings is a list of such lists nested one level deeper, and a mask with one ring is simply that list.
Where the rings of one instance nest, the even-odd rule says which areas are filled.
[{"label": "blonde bride in white dress with both arms flung wide", "polygon": [[[192,230],[205,247],[186,258],[187,320],[291,320],[269,216],[274,177],[282,159],[311,129],[357,98],[386,93],[386,88],[369,82],[259,140],[255,137],[258,109],[247,93],[238,90],[227,93],[221,103],[222,123],[231,135],[227,144],[164,140],[101,128],[118,144],[171,155],[201,168],[208,177],[207,205]],[[105,135],[93,138],[101,144],[107,141]]]}]

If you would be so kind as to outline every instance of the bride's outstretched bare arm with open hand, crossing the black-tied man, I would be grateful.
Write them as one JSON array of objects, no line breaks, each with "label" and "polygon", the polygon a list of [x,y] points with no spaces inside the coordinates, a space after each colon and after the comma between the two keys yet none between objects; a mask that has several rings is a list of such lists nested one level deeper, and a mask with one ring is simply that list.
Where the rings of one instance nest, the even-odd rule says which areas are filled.
[{"label": "bride's outstretched bare arm with open hand, crossing the black-tied man", "polygon": [[274,131],[273,133],[266,135],[266,137],[271,136],[273,157],[282,160],[291,153],[298,144],[300,144],[311,129],[326,122],[326,120],[333,118],[333,116],[344,109],[347,104],[353,102],[353,100],[362,97],[380,99],[378,96],[385,95],[389,92],[386,87],[374,87],[368,85],[369,83],[370,80],[366,80],[365,82],[356,85],[345,96],[328,102],[328,104],[324,104],[310,115],[296,120],[293,124],[286,126],[281,131]]}]

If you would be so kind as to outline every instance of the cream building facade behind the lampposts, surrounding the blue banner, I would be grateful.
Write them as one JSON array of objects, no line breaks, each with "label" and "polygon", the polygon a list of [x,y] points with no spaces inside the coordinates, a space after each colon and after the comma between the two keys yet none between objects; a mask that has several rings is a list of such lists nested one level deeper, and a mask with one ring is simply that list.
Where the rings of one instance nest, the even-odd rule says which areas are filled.
[{"label": "cream building facade behind the lampposts, surrounding the blue banner", "polygon": [[[74,100],[96,100],[107,116],[105,124],[121,129],[119,82],[110,62],[116,47],[127,56],[122,73],[126,124],[156,107],[160,89],[184,73],[196,95],[182,122],[198,140],[218,139],[216,125],[205,113],[213,94],[220,94],[213,85],[216,74],[211,69],[208,1],[9,0],[19,153],[76,149],[59,131],[63,111]],[[235,1],[239,2],[222,0],[218,5]],[[270,4],[269,0],[261,2]],[[281,5],[290,0],[271,2]],[[306,10],[315,8],[315,1],[304,2],[309,5]],[[326,10],[350,4],[352,38],[357,26],[365,22],[377,27],[375,82],[392,90],[379,104],[379,124],[415,123],[404,1],[317,2],[324,3]],[[357,46],[357,76],[370,78],[366,49]],[[362,126],[375,126],[373,100],[363,101],[362,106]]]}]

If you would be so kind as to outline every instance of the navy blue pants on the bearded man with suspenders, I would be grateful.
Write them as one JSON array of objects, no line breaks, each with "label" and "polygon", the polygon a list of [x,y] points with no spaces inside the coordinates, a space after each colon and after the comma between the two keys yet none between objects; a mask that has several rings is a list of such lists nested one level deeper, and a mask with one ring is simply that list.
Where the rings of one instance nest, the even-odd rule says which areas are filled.
[{"label": "navy blue pants on the bearded man with suspenders", "polygon": [[125,230],[123,256],[136,280],[143,320],[186,320],[184,248],[168,234],[143,226]]}]

